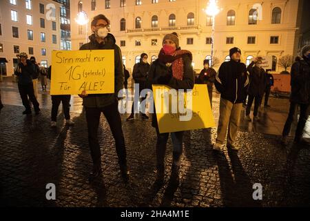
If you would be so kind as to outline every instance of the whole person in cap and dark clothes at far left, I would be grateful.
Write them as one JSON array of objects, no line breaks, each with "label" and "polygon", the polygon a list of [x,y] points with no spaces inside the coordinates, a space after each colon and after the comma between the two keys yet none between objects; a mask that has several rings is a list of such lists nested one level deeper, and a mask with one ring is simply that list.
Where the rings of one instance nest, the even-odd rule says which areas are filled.
[{"label": "whole person in cap and dark clothes at far left", "polygon": [[38,115],[40,113],[39,102],[37,101],[37,97],[34,95],[34,87],[32,82],[32,76],[37,75],[36,69],[32,62],[27,59],[28,55],[25,52],[21,52],[18,55],[18,58],[19,64],[17,64],[17,68],[14,70],[14,74],[18,77],[19,94],[21,95],[23,106],[25,106],[23,115],[31,114],[31,107],[28,97],[34,106],[36,115]]}]

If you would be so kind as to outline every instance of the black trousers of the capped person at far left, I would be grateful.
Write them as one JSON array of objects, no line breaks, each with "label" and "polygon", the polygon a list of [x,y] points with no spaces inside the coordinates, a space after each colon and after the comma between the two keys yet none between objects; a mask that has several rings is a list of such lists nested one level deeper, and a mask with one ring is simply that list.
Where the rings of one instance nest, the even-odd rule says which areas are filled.
[{"label": "black trousers of the capped person at far left", "polygon": [[32,82],[26,85],[19,84],[19,95],[21,95],[21,102],[23,102],[23,106],[25,106],[26,111],[31,111],[28,97],[30,99],[30,102],[32,102],[33,104],[34,111],[39,111],[39,102],[37,101],[37,98],[34,96]]}]

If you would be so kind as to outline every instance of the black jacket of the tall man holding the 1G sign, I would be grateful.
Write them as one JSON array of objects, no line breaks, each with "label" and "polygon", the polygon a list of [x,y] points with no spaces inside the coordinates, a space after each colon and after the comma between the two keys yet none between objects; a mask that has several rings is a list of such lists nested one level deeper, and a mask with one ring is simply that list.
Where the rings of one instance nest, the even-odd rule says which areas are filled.
[{"label": "black jacket of the tall man holding the 1G sign", "polygon": [[104,107],[116,102],[118,91],[123,89],[124,83],[124,70],[121,55],[121,49],[115,44],[115,38],[112,34],[108,33],[105,37],[105,42],[99,44],[96,41],[94,34],[90,35],[90,42],[83,44],[80,50],[114,50],[114,93],[112,94],[95,94],[88,95],[83,98],[83,105],[87,107]]}]

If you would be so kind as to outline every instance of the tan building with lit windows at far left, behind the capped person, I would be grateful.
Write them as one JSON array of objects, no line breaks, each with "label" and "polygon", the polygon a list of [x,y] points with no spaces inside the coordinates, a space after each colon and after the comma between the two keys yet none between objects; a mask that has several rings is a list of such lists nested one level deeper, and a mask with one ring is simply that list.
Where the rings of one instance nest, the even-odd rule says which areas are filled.
[{"label": "tan building with lit windows at far left, behind the capped person", "polygon": [[0,6],[3,76],[13,75],[20,52],[36,57],[38,63],[48,67],[52,61],[52,50],[61,48],[61,4],[52,0],[1,0]]}]

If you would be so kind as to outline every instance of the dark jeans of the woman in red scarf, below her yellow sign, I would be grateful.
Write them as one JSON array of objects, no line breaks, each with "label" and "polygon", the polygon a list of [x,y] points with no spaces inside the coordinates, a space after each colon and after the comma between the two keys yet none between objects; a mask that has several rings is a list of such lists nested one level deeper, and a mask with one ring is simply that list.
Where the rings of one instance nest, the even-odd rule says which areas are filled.
[{"label": "dark jeans of the woman in red scarf, below her yellow sign", "polygon": [[[173,164],[176,166],[180,166],[181,155],[183,152],[183,133],[184,131],[170,133],[173,146]],[[169,133],[159,133],[158,127],[156,126],[156,134],[157,134],[157,142],[156,142],[157,167],[163,168]]]}]

